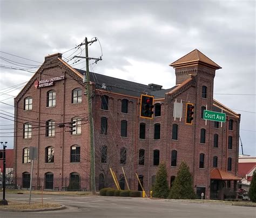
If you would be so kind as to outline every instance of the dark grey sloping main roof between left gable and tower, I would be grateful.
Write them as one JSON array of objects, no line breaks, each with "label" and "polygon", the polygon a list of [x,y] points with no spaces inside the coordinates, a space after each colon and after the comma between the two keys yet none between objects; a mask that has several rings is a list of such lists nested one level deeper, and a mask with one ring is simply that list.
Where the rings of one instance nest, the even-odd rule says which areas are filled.
[{"label": "dark grey sloping main roof between left gable and tower", "polygon": [[[76,69],[76,71],[81,75],[83,75],[86,72],[81,69]],[[90,81],[96,83],[97,89],[103,89],[102,84],[105,83],[107,87],[106,90],[109,90],[113,93],[130,95],[134,97],[140,97],[141,94],[146,93],[148,95],[153,95],[156,99],[164,98],[165,93],[170,92],[172,89],[176,87],[174,86],[170,89],[152,90],[150,89],[150,86],[141,83],[113,78],[111,76],[106,76],[92,72],[90,72]]]}]

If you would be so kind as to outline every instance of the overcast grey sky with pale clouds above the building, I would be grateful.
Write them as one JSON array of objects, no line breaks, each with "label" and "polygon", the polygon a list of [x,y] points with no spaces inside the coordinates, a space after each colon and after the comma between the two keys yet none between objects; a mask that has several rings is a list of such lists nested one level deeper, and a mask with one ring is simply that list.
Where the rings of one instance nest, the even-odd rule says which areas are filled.
[{"label": "overcast grey sky with pale clouds above the building", "polygon": [[[241,114],[244,153],[256,156],[255,1],[0,2],[0,102],[6,103],[0,103],[0,116],[13,119],[11,114],[3,115],[14,112],[7,104],[14,105],[12,95],[18,94],[25,84],[21,83],[31,78],[46,55],[64,53],[85,37],[97,37],[102,46],[102,52],[98,42],[89,47],[90,57],[103,53],[97,65],[91,62],[91,71],[163,88],[176,82],[169,64],[197,48],[222,67],[216,71],[214,99]],[[79,53],[73,49],[63,57]],[[10,67],[35,68],[6,69]],[[84,68],[85,63],[74,67]],[[13,138],[3,136],[12,133],[3,132],[13,130],[3,129],[13,128],[12,122],[4,118],[0,122],[0,140],[11,148]]]}]

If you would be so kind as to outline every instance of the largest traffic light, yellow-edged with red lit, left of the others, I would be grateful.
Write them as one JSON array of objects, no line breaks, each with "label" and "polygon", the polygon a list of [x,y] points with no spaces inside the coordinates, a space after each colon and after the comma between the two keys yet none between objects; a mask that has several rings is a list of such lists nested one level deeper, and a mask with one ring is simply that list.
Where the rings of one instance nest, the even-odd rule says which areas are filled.
[{"label": "largest traffic light, yellow-edged with red lit, left of the others", "polygon": [[140,117],[152,119],[154,96],[142,95],[140,97]]}]

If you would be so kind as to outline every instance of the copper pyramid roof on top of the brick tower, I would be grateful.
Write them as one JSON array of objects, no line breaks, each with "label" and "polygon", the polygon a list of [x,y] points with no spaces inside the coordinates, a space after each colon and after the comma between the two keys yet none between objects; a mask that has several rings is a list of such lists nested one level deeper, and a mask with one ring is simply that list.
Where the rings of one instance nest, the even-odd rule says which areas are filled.
[{"label": "copper pyramid roof on top of the brick tower", "polygon": [[198,64],[206,65],[214,69],[221,68],[214,61],[206,57],[203,53],[201,53],[197,49],[184,55],[182,58],[178,59],[177,61],[174,61],[169,66],[176,68],[176,67],[184,67],[184,66],[191,66],[191,65],[198,65]]}]

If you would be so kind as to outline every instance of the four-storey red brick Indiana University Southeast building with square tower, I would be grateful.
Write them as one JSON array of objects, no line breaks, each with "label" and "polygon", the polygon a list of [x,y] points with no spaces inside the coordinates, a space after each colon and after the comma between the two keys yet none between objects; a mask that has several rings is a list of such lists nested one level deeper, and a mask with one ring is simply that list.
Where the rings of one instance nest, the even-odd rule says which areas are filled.
[{"label": "four-storey red brick Indiana University Southeast building with square tower", "polygon": [[[149,191],[161,162],[166,163],[171,187],[182,160],[190,167],[198,195],[204,192],[207,199],[210,195],[217,198],[223,187],[235,188],[240,115],[213,99],[215,70],[221,67],[198,50],[170,66],[176,73],[176,86],[170,89],[90,72],[96,189],[113,185],[110,167],[126,188],[123,167],[131,189],[140,189],[137,172]],[[29,187],[29,146],[36,146],[39,155],[34,161],[33,186],[90,187],[84,73],[62,60],[62,54],[49,55],[15,98],[17,185]],[[154,96],[153,119],[139,116],[141,94]],[[173,117],[174,102],[181,102],[181,118]],[[192,124],[185,122],[186,103],[194,105]],[[206,122],[205,109],[225,112],[226,122]],[[75,122],[69,128],[71,121]]]}]

